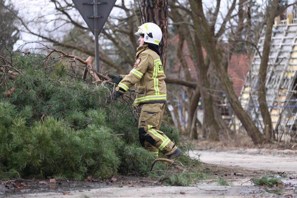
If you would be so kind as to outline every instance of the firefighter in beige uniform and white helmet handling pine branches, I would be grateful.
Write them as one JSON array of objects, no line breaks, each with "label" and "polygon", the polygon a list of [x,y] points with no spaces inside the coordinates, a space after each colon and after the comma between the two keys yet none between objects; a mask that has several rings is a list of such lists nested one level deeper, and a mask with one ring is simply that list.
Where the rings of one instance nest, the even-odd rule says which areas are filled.
[{"label": "firefighter in beige uniform and white helmet handling pine branches", "polygon": [[108,75],[112,82],[118,84],[113,98],[135,85],[133,106],[142,105],[138,123],[140,144],[155,156],[161,151],[172,159],[179,156],[181,151],[159,130],[166,103],[166,76],[158,50],[162,31],[155,23],[144,23],[135,34],[139,36],[139,47],[133,69],[128,75]]}]

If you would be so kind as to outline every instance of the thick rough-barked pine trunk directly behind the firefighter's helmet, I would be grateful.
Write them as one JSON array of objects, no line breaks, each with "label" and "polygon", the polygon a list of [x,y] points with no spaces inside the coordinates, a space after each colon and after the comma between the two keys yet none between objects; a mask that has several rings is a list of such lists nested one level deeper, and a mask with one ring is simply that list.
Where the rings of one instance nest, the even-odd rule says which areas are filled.
[{"label": "thick rough-barked pine trunk directly behind the firefighter's helmet", "polygon": [[159,43],[160,57],[165,69],[166,66],[166,45],[167,45],[167,0],[140,0],[139,10],[141,23],[155,23],[161,30],[163,39]]}]

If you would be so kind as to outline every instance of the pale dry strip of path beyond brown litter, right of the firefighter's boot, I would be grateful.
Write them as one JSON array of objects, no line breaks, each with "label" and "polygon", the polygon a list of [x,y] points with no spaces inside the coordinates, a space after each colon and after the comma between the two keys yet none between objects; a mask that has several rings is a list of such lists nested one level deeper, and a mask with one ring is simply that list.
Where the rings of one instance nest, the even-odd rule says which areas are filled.
[{"label": "pale dry strip of path beyond brown litter, right of the firefighter's boot", "polygon": [[269,150],[264,149],[237,148],[227,151],[221,151],[221,149],[195,150],[194,153],[199,153],[200,159],[209,164],[278,172],[297,172],[297,153],[290,150],[275,151],[272,154]]}]

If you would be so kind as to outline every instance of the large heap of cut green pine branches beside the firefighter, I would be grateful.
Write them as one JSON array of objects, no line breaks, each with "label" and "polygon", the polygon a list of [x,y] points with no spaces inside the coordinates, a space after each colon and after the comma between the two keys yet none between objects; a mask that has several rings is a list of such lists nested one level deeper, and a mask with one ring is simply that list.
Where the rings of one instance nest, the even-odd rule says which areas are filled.
[{"label": "large heap of cut green pine branches beside the firefighter", "polygon": [[155,158],[139,144],[138,110],[128,97],[107,100],[114,85],[82,80],[68,62],[42,54],[10,56],[0,61],[0,179],[132,173],[184,186],[203,177],[191,146],[166,122],[161,130],[183,150],[175,161],[183,170],[157,162],[150,171]]}]

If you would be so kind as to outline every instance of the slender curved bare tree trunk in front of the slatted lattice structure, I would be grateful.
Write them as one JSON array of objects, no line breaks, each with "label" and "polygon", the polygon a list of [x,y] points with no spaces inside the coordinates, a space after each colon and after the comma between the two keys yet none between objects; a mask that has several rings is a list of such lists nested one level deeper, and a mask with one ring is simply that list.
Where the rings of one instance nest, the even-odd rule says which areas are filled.
[{"label": "slender curved bare tree trunk in front of the slatted lattice structure", "polygon": [[261,59],[259,75],[258,75],[258,102],[259,102],[260,111],[261,111],[261,115],[265,126],[264,132],[266,131],[268,132],[267,133],[268,137],[266,137],[266,140],[268,141],[271,140],[273,129],[272,129],[270,113],[268,111],[268,106],[266,102],[265,82],[266,82],[266,74],[267,74],[268,57],[270,52],[272,26],[274,24],[274,18],[275,18],[278,2],[279,0],[273,0],[271,2],[271,8],[269,9],[269,12],[267,9],[268,19],[266,23],[265,40],[264,40],[262,59]]}]

